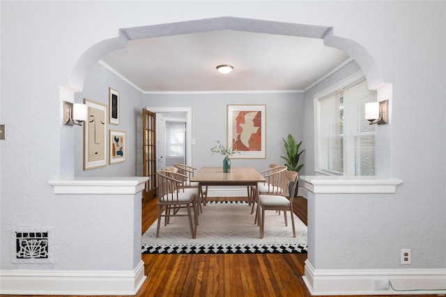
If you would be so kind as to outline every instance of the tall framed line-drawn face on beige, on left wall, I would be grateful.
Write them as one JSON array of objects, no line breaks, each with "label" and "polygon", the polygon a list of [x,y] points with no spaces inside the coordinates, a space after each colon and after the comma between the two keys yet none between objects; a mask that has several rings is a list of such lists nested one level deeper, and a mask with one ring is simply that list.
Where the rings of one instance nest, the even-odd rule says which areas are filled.
[{"label": "tall framed line-drawn face on beige, on left wall", "polygon": [[107,105],[84,98],[88,120],[84,123],[84,170],[107,165]]}]

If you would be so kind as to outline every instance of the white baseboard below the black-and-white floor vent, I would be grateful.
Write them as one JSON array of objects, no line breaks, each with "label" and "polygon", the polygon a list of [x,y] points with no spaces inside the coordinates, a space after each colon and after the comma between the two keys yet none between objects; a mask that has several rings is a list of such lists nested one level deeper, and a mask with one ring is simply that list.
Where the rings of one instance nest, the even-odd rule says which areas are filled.
[{"label": "white baseboard below the black-and-white floor vent", "polygon": [[144,262],[133,271],[0,271],[0,293],[17,295],[136,295]]}]

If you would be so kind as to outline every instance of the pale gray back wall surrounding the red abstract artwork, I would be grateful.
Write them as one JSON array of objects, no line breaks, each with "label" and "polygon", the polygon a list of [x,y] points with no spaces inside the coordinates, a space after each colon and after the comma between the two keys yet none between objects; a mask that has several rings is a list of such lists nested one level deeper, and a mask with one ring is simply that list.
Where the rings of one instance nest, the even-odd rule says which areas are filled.
[{"label": "pale gray back wall surrounding the red abstract artwork", "polygon": [[222,166],[222,155],[213,155],[214,140],[226,144],[227,105],[266,105],[266,158],[232,159],[232,166],[262,170],[271,163],[284,164],[282,137],[291,133],[302,139],[303,93],[210,93],[146,94],[144,105],[153,107],[192,107],[192,162],[196,168]]}]

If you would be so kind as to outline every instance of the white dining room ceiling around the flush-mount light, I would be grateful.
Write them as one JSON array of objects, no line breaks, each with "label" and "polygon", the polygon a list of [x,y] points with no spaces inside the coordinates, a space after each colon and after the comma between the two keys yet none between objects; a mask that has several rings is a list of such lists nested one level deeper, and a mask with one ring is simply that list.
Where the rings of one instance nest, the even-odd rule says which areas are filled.
[{"label": "white dining room ceiling around the flush-mount light", "polygon": [[349,58],[318,38],[220,30],[130,40],[101,63],[144,93],[305,91]]}]

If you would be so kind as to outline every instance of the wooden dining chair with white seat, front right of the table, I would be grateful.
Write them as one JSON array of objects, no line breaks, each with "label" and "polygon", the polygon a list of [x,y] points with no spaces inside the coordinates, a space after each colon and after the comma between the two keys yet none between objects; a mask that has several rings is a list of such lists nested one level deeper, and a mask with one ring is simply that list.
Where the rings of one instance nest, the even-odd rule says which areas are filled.
[{"label": "wooden dining chair with white seat, front right of the table", "polygon": [[[293,225],[293,237],[295,237],[295,225],[294,225],[294,213],[293,213],[293,197],[295,191],[297,191],[298,184],[298,173],[286,170],[283,173],[286,184],[288,185],[290,181],[294,182],[293,188],[291,190],[291,197],[288,199],[285,195],[270,195],[270,194],[259,194],[259,208],[261,209],[261,228],[260,234],[263,238],[265,230],[265,211],[284,211],[285,226],[288,226],[288,218],[286,213],[289,211],[291,213],[291,224]],[[259,209],[258,208],[258,209]]]}]

